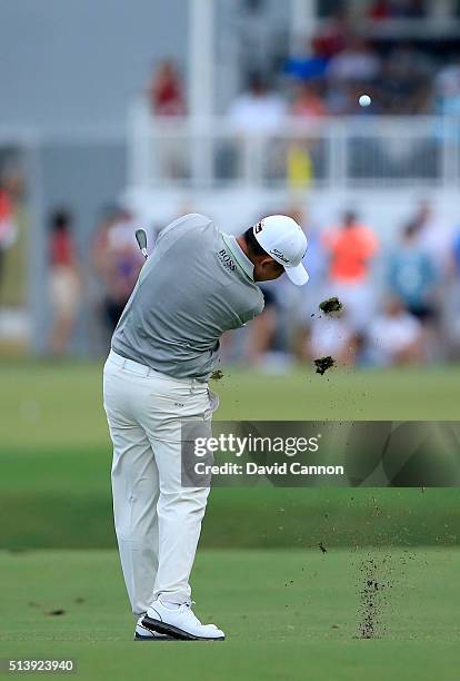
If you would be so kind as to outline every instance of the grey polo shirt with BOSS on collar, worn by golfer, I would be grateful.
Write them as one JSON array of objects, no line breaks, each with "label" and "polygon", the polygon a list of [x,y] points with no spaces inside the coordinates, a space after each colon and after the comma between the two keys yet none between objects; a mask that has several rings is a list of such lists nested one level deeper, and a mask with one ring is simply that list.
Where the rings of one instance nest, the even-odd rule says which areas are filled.
[{"label": "grey polo shirt with BOSS on collar, worn by golfer", "polygon": [[252,263],[237,239],[203,215],[186,215],[160,233],[112,349],[169,376],[207,381],[221,335],[262,309]]}]

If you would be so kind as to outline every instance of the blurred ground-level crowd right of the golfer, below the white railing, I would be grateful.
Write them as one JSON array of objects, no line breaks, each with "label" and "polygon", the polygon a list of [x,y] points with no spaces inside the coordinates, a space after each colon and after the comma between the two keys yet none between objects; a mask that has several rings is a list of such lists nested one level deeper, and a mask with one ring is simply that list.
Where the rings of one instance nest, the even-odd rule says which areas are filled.
[{"label": "blurred ground-level crowd right of the golfer, below the white railing", "polygon": [[[428,203],[391,246],[346,210],[334,225],[306,229],[309,284],[266,284],[264,313],[248,333],[246,357],[268,371],[331,355],[342,365],[438,363],[460,356],[460,226],[443,224]],[[338,315],[319,304],[337,296]],[[231,348],[229,349],[231,357]]]}]

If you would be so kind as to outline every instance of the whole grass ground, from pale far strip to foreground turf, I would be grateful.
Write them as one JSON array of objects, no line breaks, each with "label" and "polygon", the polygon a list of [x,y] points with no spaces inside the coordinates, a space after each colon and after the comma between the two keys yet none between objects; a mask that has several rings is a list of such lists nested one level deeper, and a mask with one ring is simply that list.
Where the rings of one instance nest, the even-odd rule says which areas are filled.
[{"label": "whole grass ground, from pale far strip to foreground turf", "polygon": [[[459,415],[459,367],[223,369],[212,385],[220,420]],[[216,488],[192,584],[197,614],[228,640],[134,643],[114,551],[102,363],[0,371],[0,658],[77,658],[77,678],[94,680],[458,678],[458,488]],[[369,557],[386,560],[388,581],[376,640],[356,638]]]}]

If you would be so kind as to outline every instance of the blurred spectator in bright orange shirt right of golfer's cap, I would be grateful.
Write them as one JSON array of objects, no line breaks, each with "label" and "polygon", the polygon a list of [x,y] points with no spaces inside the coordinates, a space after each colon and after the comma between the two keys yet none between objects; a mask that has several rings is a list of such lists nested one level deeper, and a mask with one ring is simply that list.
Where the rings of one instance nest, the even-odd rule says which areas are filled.
[{"label": "blurred spectator in bright orange shirt right of golfer's cap", "polygon": [[369,280],[372,259],[379,250],[377,236],[358,221],[354,211],[348,210],[339,226],[324,233],[323,245],[329,254],[331,295],[341,298],[353,328],[363,332],[373,312]]}]

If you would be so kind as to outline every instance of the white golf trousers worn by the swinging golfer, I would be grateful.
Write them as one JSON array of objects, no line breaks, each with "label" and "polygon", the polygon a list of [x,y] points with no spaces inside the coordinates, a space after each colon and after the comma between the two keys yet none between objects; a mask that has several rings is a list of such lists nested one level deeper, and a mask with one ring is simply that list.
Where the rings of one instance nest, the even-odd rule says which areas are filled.
[{"label": "white golf trousers worn by the swinging golfer", "polygon": [[217,396],[206,383],[166,376],[112,351],[103,403],[113,443],[114,525],[132,612],[146,612],[159,596],[184,603],[209,487],[181,485],[180,424],[209,423]]}]

